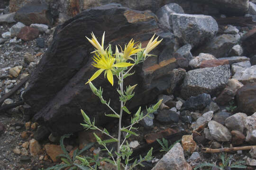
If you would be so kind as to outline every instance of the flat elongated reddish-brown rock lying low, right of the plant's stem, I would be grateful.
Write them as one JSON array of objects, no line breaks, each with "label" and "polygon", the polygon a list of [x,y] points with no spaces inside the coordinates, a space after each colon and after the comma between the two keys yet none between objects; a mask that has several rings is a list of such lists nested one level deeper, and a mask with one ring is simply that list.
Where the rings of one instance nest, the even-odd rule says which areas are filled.
[{"label": "flat elongated reddish-brown rock lying low, right of the plant's stem", "polygon": [[147,135],[144,136],[144,138],[145,138],[147,144],[151,144],[151,143],[155,142],[155,140],[158,139],[158,138],[170,136],[174,133],[177,133],[177,130],[167,128],[165,130],[161,130],[161,131],[156,132],[156,133],[147,134]]}]

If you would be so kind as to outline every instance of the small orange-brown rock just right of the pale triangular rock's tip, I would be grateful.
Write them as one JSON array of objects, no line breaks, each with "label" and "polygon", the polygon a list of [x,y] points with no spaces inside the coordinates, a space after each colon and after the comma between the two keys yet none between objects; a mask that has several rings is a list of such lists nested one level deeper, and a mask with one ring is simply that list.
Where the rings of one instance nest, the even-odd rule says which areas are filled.
[{"label": "small orange-brown rock just right of the pale triangular rock's tip", "polygon": [[193,140],[192,135],[182,136],[182,147],[185,152],[192,154],[196,150],[196,142]]}]

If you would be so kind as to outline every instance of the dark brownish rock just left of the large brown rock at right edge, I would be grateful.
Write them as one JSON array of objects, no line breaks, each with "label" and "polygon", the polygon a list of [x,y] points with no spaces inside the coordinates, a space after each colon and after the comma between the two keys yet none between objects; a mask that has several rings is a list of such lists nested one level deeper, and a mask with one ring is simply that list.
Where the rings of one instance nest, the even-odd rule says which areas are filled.
[{"label": "dark brownish rock just left of the large brown rock at right edge", "polygon": [[219,96],[216,98],[216,102],[221,105],[224,106],[226,104],[228,104],[231,100],[234,99],[236,95],[236,92],[234,92],[233,90],[231,90],[230,88],[226,87],[220,94]]}]

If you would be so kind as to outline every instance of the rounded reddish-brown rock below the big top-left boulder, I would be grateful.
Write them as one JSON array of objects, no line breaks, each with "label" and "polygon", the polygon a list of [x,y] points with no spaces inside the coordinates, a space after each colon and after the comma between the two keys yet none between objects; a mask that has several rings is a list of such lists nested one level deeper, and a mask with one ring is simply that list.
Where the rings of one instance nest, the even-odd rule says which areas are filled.
[{"label": "rounded reddish-brown rock below the big top-left boulder", "polygon": [[31,41],[37,38],[38,35],[39,35],[38,29],[32,28],[30,26],[24,26],[23,28],[21,28],[17,37],[24,41]]}]

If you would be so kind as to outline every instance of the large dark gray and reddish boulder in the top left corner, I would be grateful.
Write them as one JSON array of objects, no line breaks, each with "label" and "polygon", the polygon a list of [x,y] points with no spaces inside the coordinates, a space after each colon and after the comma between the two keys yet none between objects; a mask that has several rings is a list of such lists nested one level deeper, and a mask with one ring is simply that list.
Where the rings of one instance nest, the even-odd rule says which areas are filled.
[{"label": "large dark gray and reddish boulder in the top left corner", "polygon": [[51,25],[53,18],[46,4],[28,3],[16,12],[14,19],[27,26],[30,24]]}]

